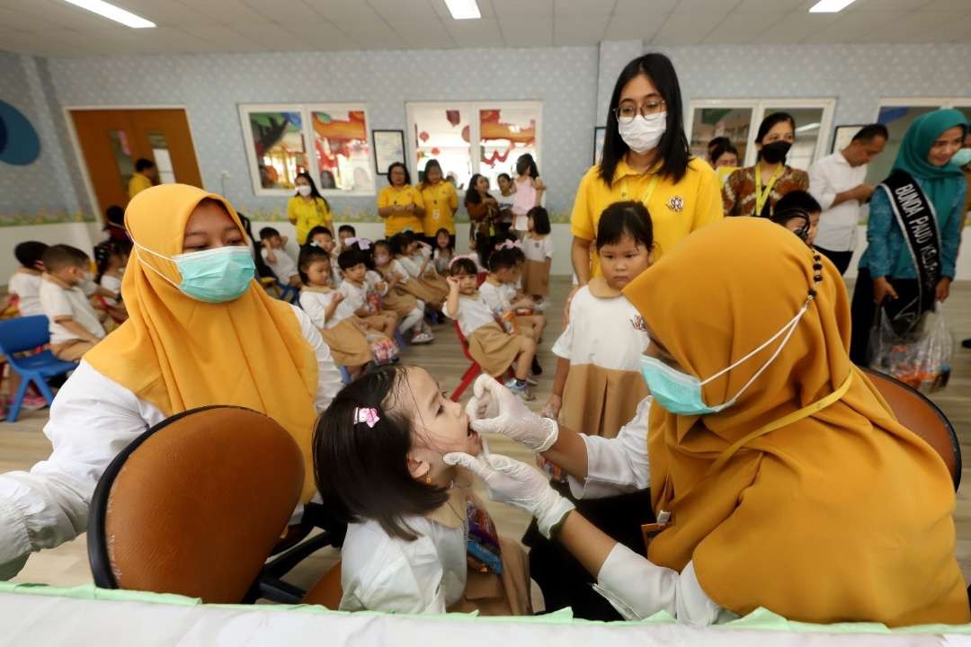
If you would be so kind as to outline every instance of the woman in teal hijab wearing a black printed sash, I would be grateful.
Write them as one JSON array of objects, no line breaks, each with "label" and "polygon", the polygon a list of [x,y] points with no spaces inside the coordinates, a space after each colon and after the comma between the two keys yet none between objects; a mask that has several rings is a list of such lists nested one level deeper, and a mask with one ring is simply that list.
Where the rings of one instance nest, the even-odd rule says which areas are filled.
[{"label": "woman in teal hijab wearing a black printed sash", "polygon": [[900,143],[889,177],[877,187],[853,297],[850,357],[869,362],[870,331],[883,307],[894,331],[915,329],[948,298],[961,240],[967,182],[951,161],[968,122],[960,111],[921,114]]}]

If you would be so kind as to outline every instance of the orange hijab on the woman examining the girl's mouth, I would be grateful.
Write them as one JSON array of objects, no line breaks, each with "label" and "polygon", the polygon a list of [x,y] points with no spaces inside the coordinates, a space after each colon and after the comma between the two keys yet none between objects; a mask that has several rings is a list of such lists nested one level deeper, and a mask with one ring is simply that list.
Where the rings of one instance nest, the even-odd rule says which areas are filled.
[{"label": "orange hijab on the woman examining the girl's mouth", "polygon": [[[624,294],[682,370],[703,380],[803,307],[813,253],[768,220],[725,218],[665,253]],[[705,593],[739,614],[764,606],[812,623],[966,623],[948,469],[850,363],[846,287],[828,260],[819,263],[818,295],[736,404],[706,416],[654,404],[653,506],[670,510],[673,525],[648,557],[679,571],[693,560]],[[777,348],[704,385],[705,403],[732,398]],[[733,442],[832,394],[850,372],[842,399],[712,467]]]}]

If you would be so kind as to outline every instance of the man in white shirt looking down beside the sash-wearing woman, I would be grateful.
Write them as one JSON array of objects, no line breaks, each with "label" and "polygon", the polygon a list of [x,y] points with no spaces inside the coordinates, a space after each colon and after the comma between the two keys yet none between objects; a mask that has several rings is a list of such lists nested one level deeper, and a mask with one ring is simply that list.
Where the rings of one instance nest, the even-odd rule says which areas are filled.
[{"label": "man in white shirt looking down beside the sash-wearing woman", "polygon": [[809,192],[820,206],[816,248],[840,274],[845,274],[856,246],[859,208],[870,200],[874,187],[866,184],[866,165],[884,150],[889,134],[880,123],[863,126],[850,146],[818,160],[809,168]]}]

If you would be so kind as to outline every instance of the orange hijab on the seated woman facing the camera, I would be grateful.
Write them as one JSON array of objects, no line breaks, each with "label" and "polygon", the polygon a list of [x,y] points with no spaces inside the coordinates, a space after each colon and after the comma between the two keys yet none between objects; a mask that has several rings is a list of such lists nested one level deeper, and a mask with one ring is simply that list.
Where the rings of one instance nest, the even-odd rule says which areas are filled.
[{"label": "orange hijab on the seated woman facing the camera", "polygon": [[[206,199],[221,204],[243,231],[225,199],[184,184],[139,193],[125,211],[125,226],[136,243],[171,258],[182,253],[189,215]],[[84,359],[166,416],[208,404],[246,406],[270,416],[303,452],[303,501],[310,501],[316,491],[311,434],[318,367],[293,308],[255,280],[235,301],[203,303],[156,272],[176,284],[182,280],[174,263],[136,247],[121,281],[129,318]]]}]

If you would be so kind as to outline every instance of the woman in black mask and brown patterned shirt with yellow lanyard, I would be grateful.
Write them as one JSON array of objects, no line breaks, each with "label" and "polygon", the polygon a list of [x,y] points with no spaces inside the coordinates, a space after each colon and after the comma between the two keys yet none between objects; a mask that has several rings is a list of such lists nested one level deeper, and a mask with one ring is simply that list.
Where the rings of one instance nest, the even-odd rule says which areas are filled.
[{"label": "woman in black mask and brown patterned shirt with yellow lanyard", "polygon": [[793,142],[795,119],[791,114],[772,113],[762,119],[755,135],[755,165],[731,174],[721,187],[725,215],[769,217],[789,191],[809,190],[806,172],[786,164]]}]

